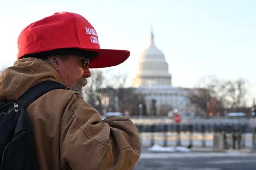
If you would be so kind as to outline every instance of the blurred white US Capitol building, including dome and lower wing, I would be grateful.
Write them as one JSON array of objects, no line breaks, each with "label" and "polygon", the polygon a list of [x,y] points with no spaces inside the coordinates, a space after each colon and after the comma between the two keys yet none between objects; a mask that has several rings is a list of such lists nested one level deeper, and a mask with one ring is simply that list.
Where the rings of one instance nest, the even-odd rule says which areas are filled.
[{"label": "blurred white US Capitol building, including dome and lower wing", "polygon": [[[142,96],[148,115],[166,115],[177,112],[182,117],[194,116],[195,108],[188,98],[193,89],[172,87],[165,56],[154,43],[151,32],[149,47],[142,51],[137,61],[133,87]],[[152,107],[153,106],[153,107]],[[155,112],[152,112],[155,108]]]}]

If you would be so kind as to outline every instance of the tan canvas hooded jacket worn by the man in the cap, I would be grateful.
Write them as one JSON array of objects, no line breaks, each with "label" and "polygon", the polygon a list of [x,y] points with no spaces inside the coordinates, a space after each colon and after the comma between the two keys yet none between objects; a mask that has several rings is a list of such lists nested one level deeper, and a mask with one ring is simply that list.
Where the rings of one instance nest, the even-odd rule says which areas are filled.
[{"label": "tan canvas hooded jacket worn by the man in the cap", "polygon": [[[0,76],[0,100],[17,100],[44,80],[61,82],[43,60],[19,59]],[[30,144],[41,170],[133,169],[139,159],[139,133],[125,117],[102,121],[99,113],[72,90],[50,91],[27,107]]]}]

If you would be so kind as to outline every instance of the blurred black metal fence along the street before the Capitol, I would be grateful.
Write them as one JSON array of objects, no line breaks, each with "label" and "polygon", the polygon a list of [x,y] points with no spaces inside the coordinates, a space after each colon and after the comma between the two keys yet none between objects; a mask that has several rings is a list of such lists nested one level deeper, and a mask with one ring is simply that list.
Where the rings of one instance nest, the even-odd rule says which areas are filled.
[{"label": "blurred black metal fence along the street before the Capitol", "polygon": [[[201,146],[206,147],[206,133],[223,133],[225,132],[231,134],[232,132],[241,132],[242,135],[245,133],[252,132],[252,128],[249,124],[241,123],[212,123],[212,124],[203,124],[203,123],[194,123],[194,124],[178,124],[178,123],[169,123],[169,124],[136,124],[140,134],[148,134],[149,145],[153,146],[156,143],[156,134],[161,133],[161,140],[163,146],[168,146],[168,134],[170,132],[175,133],[176,146],[181,146],[181,133],[186,133],[188,136],[188,145],[187,147],[193,146],[193,135],[200,134],[201,136]],[[230,135],[231,136],[231,135]],[[183,143],[183,142],[182,142]],[[143,145],[143,144],[142,144]],[[245,147],[245,142],[242,142],[242,147]]]}]

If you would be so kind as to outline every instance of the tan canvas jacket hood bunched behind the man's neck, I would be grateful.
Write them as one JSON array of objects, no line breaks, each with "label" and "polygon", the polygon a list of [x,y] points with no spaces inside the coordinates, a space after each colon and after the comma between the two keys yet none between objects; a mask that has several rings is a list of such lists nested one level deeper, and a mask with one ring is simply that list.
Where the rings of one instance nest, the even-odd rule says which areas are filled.
[{"label": "tan canvas jacket hood bunched behind the man's neck", "polygon": [[0,100],[17,100],[30,87],[45,80],[62,83],[58,72],[44,60],[22,58],[0,75]]}]

